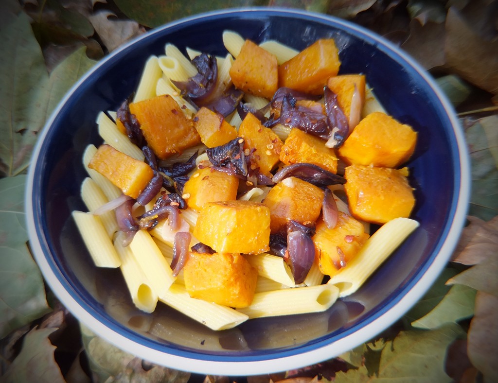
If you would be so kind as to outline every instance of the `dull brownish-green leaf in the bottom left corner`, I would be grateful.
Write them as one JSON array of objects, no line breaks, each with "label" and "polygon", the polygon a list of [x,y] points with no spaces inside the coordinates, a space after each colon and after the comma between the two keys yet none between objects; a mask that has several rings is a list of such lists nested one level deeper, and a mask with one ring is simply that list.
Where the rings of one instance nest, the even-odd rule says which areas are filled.
[{"label": "dull brownish-green leaf in the bottom left corner", "polygon": [[54,359],[55,347],[48,336],[56,328],[33,329],[24,337],[22,349],[2,377],[2,382],[65,383]]}]

